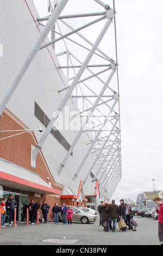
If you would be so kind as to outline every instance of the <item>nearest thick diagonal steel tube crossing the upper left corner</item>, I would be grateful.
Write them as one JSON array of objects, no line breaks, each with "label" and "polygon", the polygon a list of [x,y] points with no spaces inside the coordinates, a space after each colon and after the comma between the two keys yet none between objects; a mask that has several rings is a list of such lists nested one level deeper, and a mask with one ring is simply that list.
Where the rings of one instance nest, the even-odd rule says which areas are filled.
[{"label": "nearest thick diagonal steel tube crossing the upper left corner", "polygon": [[21,65],[20,69],[17,71],[14,79],[10,83],[10,86],[7,89],[7,92],[5,92],[4,96],[1,99],[0,102],[0,116],[2,117],[2,113],[4,111],[4,108],[7,106],[12,94],[15,92],[18,84],[22,80],[22,77],[26,73],[30,63],[32,63],[32,60],[36,56],[36,53],[39,51],[43,41],[47,38],[49,32],[51,31],[54,23],[57,21],[59,15],[61,14],[62,10],[65,8],[65,5],[67,4],[68,0],[61,0],[53,11],[52,16],[49,18],[48,22],[46,23],[45,28],[40,33],[39,37],[35,41],[35,44],[33,45],[32,49],[29,51],[26,59],[24,60],[23,64]]}]

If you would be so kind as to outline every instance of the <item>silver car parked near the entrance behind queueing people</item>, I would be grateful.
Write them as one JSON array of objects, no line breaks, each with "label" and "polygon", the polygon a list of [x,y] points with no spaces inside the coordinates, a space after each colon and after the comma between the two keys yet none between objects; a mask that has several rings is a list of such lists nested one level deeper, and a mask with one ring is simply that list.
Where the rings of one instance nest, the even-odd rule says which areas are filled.
[{"label": "silver car parked near the entrance behind queueing people", "polygon": [[[71,205],[66,205],[66,206],[68,208]],[[96,221],[97,215],[95,215],[95,214],[90,214],[89,212],[84,212],[83,210],[81,210],[80,208],[77,208],[75,206],[71,206],[71,209],[73,210],[73,214],[72,214],[72,221],[73,222],[81,221],[83,224],[87,224],[89,222],[95,222]],[[60,212],[59,212],[59,215],[58,215],[58,220],[62,221],[62,216],[61,216]]]}]

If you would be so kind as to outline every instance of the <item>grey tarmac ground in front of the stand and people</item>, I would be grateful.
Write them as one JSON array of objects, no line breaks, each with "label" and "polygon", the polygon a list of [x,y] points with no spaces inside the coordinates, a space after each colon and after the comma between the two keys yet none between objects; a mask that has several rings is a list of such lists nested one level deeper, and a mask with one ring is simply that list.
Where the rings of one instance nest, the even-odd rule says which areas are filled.
[{"label": "grey tarmac ground in front of the stand and people", "polygon": [[109,245],[160,245],[158,221],[153,218],[134,216],[139,223],[137,231],[127,230],[104,232],[99,227],[99,217],[95,223],[72,223],[63,225],[54,222],[38,225],[17,223],[17,227],[1,228],[0,245],[55,245],[55,246],[109,246]]}]

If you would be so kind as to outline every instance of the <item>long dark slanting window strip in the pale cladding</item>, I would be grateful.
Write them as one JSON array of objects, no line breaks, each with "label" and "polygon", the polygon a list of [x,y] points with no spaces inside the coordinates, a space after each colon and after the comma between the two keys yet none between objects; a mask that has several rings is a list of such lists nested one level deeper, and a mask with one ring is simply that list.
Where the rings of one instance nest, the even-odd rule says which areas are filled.
[{"label": "long dark slanting window strip in the pale cladding", "polygon": [[[49,122],[51,121],[47,115],[42,111],[42,109],[40,108],[40,106],[35,102],[35,109],[34,109],[34,115],[37,119],[39,119],[39,121],[41,122],[41,124],[43,124],[45,127],[48,126]],[[71,145],[66,141],[66,139],[64,138],[64,136],[61,135],[61,133],[55,128],[51,130],[51,134],[53,135],[53,137],[55,139],[57,139],[57,141],[68,151],[71,147]],[[71,153],[71,155],[73,156],[73,153]]]}]

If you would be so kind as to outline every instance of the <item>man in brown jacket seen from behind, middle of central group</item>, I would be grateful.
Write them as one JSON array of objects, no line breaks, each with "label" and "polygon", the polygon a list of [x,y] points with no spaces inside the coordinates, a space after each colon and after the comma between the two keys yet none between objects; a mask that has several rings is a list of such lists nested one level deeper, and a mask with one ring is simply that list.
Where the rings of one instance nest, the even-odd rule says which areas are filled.
[{"label": "man in brown jacket seen from behind, middle of central group", "polygon": [[111,204],[108,205],[108,221],[106,225],[106,230],[109,231],[109,227],[111,225],[112,221],[112,232],[115,232],[116,230],[116,218],[118,217],[119,214],[119,208],[118,205],[115,204],[115,200],[111,200]]}]

